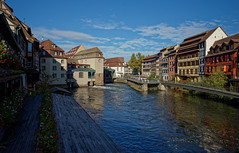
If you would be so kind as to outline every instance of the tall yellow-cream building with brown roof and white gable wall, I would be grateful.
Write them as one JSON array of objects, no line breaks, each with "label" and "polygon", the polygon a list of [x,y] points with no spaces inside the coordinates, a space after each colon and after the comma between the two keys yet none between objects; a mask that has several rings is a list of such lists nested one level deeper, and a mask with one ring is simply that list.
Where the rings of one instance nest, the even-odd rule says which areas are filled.
[{"label": "tall yellow-cream building with brown roof and white gable wall", "polygon": [[213,43],[227,37],[221,27],[188,37],[180,44],[178,50],[178,80],[191,78],[198,81],[205,74],[205,56]]}]

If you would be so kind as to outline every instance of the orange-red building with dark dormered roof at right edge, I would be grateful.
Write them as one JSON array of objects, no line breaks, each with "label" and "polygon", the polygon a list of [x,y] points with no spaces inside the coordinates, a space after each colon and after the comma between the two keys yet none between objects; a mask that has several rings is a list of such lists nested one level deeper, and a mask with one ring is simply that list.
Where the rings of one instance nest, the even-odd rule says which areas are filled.
[{"label": "orange-red building with dark dormered roof at right edge", "polygon": [[206,75],[223,70],[229,79],[238,79],[239,34],[216,41],[206,56]]}]

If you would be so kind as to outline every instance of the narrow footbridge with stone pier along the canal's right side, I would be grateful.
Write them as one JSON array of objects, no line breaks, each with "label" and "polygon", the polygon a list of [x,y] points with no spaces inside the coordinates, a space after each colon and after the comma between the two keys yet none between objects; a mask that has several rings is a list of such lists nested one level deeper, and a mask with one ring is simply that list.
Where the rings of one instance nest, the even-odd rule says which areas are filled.
[{"label": "narrow footbridge with stone pier along the canal's right side", "polygon": [[154,90],[165,90],[166,86],[178,87],[188,90],[200,91],[205,93],[211,93],[215,95],[227,96],[239,99],[239,93],[231,91],[223,91],[208,87],[195,86],[195,85],[186,85],[181,83],[171,83],[171,82],[160,82],[159,80],[148,80],[148,79],[139,79],[139,78],[128,78],[127,83],[131,86],[134,86],[142,91],[148,91],[151,89]]}]

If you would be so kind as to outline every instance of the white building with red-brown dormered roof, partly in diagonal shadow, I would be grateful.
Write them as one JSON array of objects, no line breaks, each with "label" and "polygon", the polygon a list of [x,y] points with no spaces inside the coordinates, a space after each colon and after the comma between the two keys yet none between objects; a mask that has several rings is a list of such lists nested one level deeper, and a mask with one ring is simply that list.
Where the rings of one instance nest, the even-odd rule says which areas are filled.
[{"label": "white building with red-brown dormered roof, partly in diagonal shadow", "polygon": [[64,50],[51,40],[41,42],[41,79],[50,76],[51,85],[66,85],[67,61]]}]

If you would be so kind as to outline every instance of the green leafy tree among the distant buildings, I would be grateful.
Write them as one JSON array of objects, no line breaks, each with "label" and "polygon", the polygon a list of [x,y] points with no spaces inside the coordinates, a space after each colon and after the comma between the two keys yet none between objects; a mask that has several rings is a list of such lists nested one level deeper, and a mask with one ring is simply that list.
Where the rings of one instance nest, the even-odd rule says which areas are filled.
[{"label": "green leafy tree among the distant buildings", "polygon": [[142,72],[142,60],[144,56],[141,53],[137,53],[136,55],[133,53],[131,55],[131,59],[129,61],[129,66],[131,69],[136,69],[138,72]]}]

